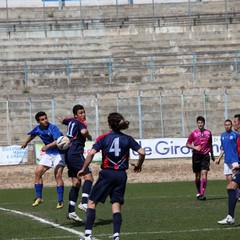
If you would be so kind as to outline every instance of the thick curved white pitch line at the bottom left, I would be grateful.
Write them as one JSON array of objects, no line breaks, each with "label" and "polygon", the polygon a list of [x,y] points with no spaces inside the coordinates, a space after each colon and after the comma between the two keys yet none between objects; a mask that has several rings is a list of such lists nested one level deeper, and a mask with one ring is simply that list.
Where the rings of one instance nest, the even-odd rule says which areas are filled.
[{"label": "thick curved white pitch line at the bottom left", "polygon": [[[84,237],[84,233],[83,232],[79,232],[79,231],[71,229],[71,228],[63,227],[60,224],[57,224],[57,223],[54,223],[54,222],[50,222],[50,221],[45,220],[45,219],[40,218],[40,217],[36,217],[36,216],[34,216],[34,215],[30,214],[30,213],[20,212],[20,211],[16,211],[16,210],[12,210],[12,209],[1,208],[1,207],[0,207],[0,210],[5,211],[5,212],[15,213],[15,214],[18,214],[18,215],[21,215],[21,216],[26,216],[26,217],[32,218],[35,221],[51,225],[51,226],[53,226],[55,228],[59,228],[59,229],[62,229],[64,231],[76,234],[76,235],[78,235],[80,237]],[[97,240],[96,238],[93,238],[93,239]]]}]

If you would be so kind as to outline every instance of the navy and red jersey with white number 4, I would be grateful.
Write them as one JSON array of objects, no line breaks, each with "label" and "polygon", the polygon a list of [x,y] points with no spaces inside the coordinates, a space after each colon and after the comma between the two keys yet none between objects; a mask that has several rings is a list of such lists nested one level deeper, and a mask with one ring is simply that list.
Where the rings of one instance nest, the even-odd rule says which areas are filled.
[{"label": "navy and red jersey with white number 4", "polygon": [[99,136],[93,149],[102,151],[102,169],[126,170],[129,164],[129,150],[138,151],[141,146],[133,137],[122,132],[109,132]]}]

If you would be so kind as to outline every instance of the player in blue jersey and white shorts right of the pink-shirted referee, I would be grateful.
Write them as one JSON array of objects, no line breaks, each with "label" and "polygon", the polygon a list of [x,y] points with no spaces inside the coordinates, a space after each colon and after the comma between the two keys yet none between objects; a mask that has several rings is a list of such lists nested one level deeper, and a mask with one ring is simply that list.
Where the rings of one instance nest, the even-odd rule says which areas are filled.
[{"label": "player in blue jersey and white shorts right of the pink-shirted referee", "polygon": [[224,175],[228,182],[232,181],[232,168],[238,166],[237,141],[240,137],[238,132],[232,131],[232,121],[227,119],[224,121],[225,132],[221,134],[221,152],[216,160],[219,164],[224,155]]}]

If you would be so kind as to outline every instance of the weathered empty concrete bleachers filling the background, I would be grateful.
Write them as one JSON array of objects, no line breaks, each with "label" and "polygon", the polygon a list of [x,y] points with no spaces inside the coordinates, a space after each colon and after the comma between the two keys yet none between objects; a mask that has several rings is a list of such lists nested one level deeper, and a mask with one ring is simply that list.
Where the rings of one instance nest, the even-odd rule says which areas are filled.
[{"label": "weathered empty concrete bleachers filling the background", "polygon": [[[58,100],[55,108],[60,114],[68,115],[71,113],[69,109],[73,101],[67,99],[97,98],[100,133],[108,128],[105,123],[108,112],[119,110],[130,118],[130,133],[138,135],[139,116],[136,99],[140,94],[143,97],[142,121],[144,125],[149,125],[148,128],[144,128],[143,136],[182,136],[182,129],[179,127],[181,124],[178,123],[181,119],[174,119],[181,111],[179,96],[182,93],[196,96],[204,91],[223,94],[224,89],[233,91],[239,86],[234,62],[235,51],[239,50],[239,24],[228,24],[227,29],[224,23],[196,24],[190,29],[182,22],[179,26],[177,21],[171,25],[170,20],[174,21],[174,18],[168,18],[167,21],[167,16],[174,16],[177,12],[177,15],[185,16],[187,24],[187,9],[187,2],[156,4],[155,16],[161,20],[161,24],[156,25],[155,29],[152,28],[151,21],[147,26],[136,23],[140,15],[151,16],[152,6],[147,4],[120,6],[119,18],[124,21],[120,28],[114,27],[115,6],[92,6],[84,7],[84,21],[94,18],[101,22],[102,19],[106,19],[107,23],[112,21],[112,27],[102,22],[102,25],[96,26],[95,29],[66,30],[59,27],[47,31],[47,34],[42,31],[42,27],[39,27],[39,31],[37,28],[27,31],[27,27],[25,31],[0,31],[0,99],[26,101],[30,97],[43,100],[54,97]],[[240,12],[240,4],[230,1],[228,9],[237,14]],[[223,14],[224,19],[223,1],[192,3],[191,10],[192,15],[218,13]],[[0,9],[0,19],[4,18],[4,14],[4,9]],[[51,21],[57,22],[62,18],[71,20],[79,18],[79,9],[47,8],[45,14]],[[31,24],[31,19],[43,20],[43,10],[10,9],[9,16],[18,21],[27,20]],[[130,24],[130,17],[135,18],[136,24]],[[165,26],[162,25],[163,17],[166,18]],[[196,53],[195,78],[193,53]],[[153,76],[150,67],[152,58]],[[108,69],[110,59],[113,67],[111,82]],[[71,66],[70,70],[68,64]],[[166,98],[162,107],[163,123],[159,121],[160,94],[177,95],[171,97],[171,100]],[[121,102],[119,109],[116,108],[116,96]],[[156,96],[156,99],[153,96]],[[93,103],[90,101],[85,104],[90,112],[89,126],[94,128]],[[187,102],[186,133],[194,126],[194,122],[191,123],[192,119],[196,114],[201,114],[195,109],[202,106],[202,103],[198,104],[197,97]],[[218,109],[218,104],[223,105],[222,99],[220,101],[219,98],[213,97],[209,101],[208,111]],[[21,106],[16,106],[18,111],[10,113],[11,123],[16,127],[16,117],[19,115],[22,119],[27,119],[29,114],[28,104],[19,105]],[[34,109],[38,108],[49,109],[49,102],[36,105]],[[219,131],[219,122],[223,118],[223,110],[218,111],[219,118],[210,120],[212,125],[216,124],[216,132]],[[174,130],[169,131],[171,128]],[[26,129],[21,131],[26,132]],[[22,139],[21,134],[17,129],[11,129],[13,139]]]}]

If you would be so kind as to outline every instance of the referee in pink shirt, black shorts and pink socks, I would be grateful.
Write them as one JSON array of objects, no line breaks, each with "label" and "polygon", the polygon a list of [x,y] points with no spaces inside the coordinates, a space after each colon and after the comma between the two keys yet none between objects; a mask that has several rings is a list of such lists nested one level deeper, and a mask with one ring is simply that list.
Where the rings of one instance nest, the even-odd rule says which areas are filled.
[{"label": "referee in pink shirt, black shorts and pink socks", "polygon": [[192,169],[195,173],[195,185],[197,188],[197,199],[206,200],[204,196],[207,187],[207,174],[211,159],[215,161],[212,148],[212,133],[205,129],[205,118],[197,117],[198,129],[194,130],[188,137],[186,147],[193,150]]}]

